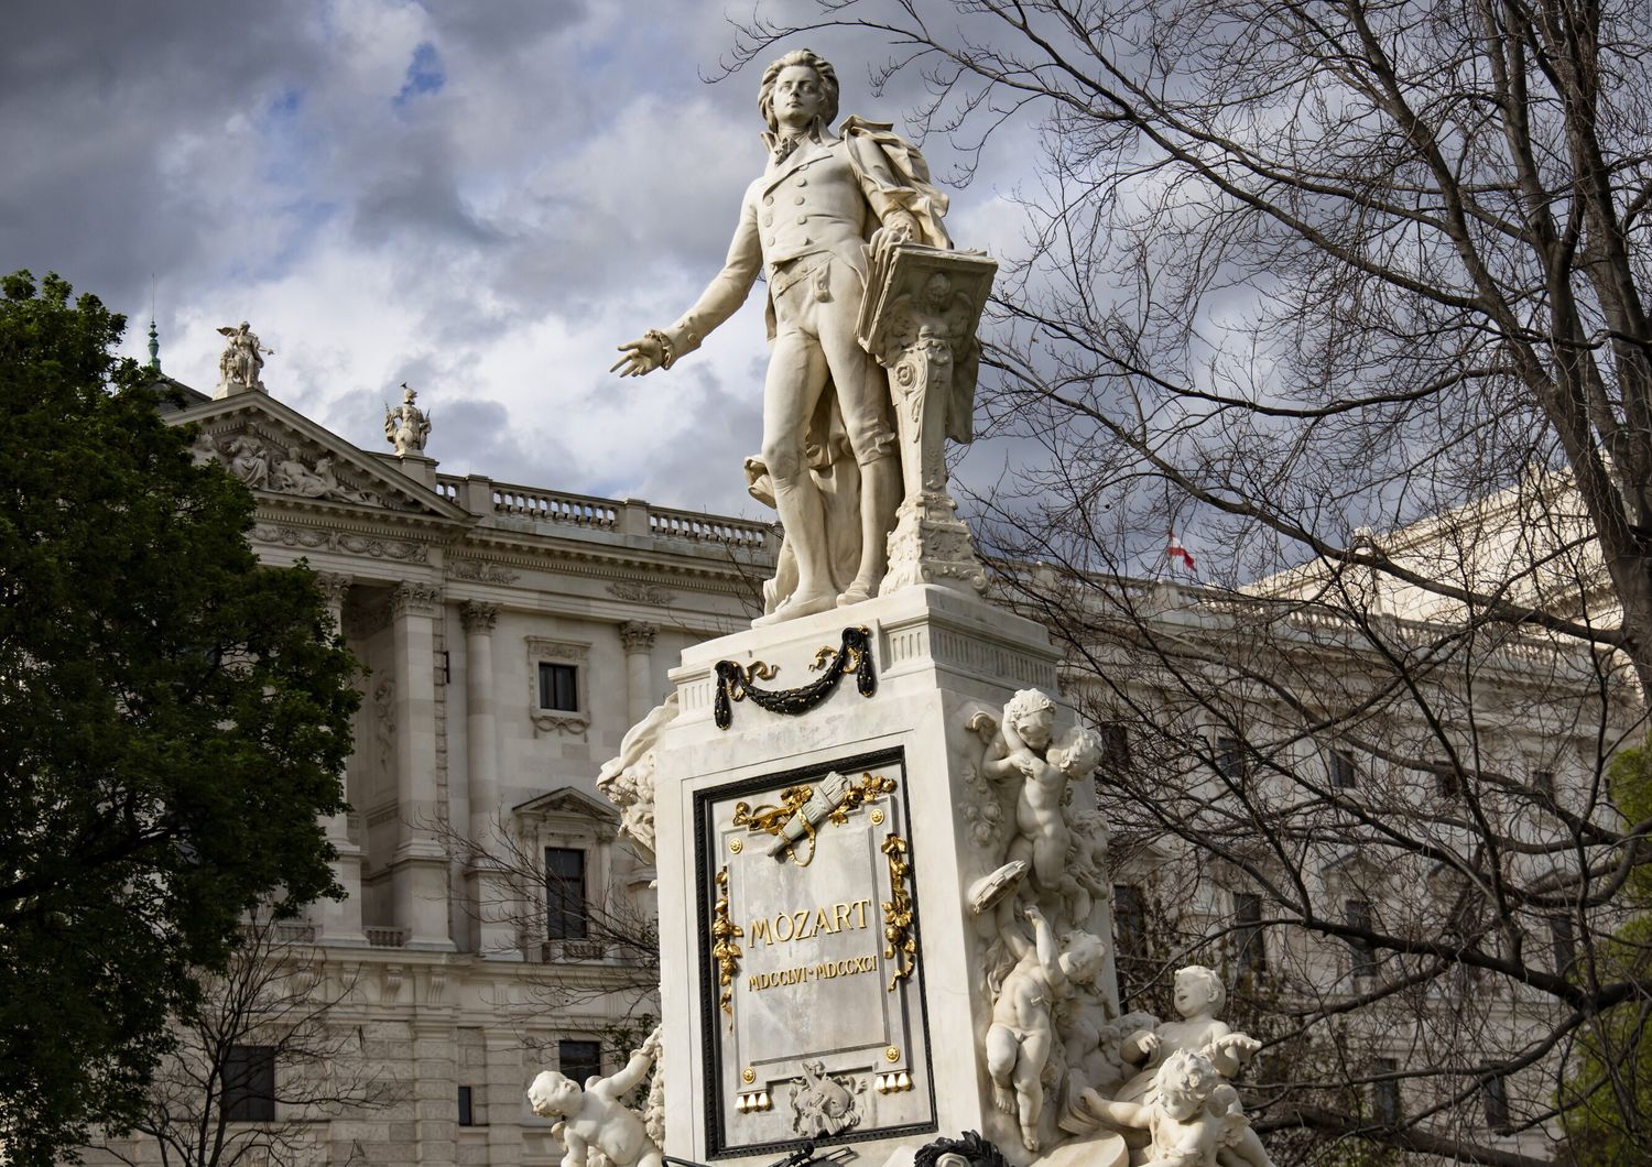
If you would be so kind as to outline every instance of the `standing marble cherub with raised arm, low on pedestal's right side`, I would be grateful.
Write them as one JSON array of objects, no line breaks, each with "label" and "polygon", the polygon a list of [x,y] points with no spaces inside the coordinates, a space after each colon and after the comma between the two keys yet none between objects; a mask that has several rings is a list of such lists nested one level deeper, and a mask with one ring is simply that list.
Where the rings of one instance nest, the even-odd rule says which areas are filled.
[{"label": "standing marble cherub with raised arm, low on pedestal's right side", "polygon": [[1023,916],[1032,926],[1031,941],[1013,924],[1003,929],[1016,962],[993,999],[986,1071],[993,1078],[993,1104],[1016,1116],[1023,1146],[1037,1150],[1044,1066],[1056,1043],[1054,1009],[1075,985],[1100,976],[1107,947],[1090,933],[1069,933],[1057,944],[1034,905],[1024,906]]}]

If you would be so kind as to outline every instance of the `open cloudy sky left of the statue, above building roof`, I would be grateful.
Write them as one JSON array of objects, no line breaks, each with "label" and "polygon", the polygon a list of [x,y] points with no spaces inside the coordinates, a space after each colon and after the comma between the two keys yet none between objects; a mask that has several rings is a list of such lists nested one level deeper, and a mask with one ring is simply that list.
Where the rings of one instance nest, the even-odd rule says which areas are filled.
[{"label": "open cloudy sky left of the statue, above building roof", "polygon": [[[760,3],[785,18],[798,3]],[[757,295],[669,373],[615,347],[674,320],[719,269],[763,162],[757,73],[707,83],[750,0],[220,0],[7,5],[0,262],[154,314],[167,373],[216,381],[218,325],[276,350],[264,381],[365,449],[408,381],[444,472],[762,513]],[[843,112],[872,36],[808,41]],[[783,48],[796,48],[786,43]],[[928,147],[938,175],[952,158]],[[953,191],[961,246],[1016,243],[999,139]],[[152,284],[154,281],[154,284]],[[970,454],[990,474],[1001,454]]]}]

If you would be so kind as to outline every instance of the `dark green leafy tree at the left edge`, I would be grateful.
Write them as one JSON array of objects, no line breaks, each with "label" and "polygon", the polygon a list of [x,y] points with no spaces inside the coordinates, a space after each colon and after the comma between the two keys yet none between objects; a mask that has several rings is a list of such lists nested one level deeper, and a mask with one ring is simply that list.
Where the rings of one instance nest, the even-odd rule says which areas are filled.
[{"label": "dark green leafy tree at the left edge", "polygon": [[337,895],[354,660],[193,464],[124,319],[0,281],[0,1154],[137,1114],[241,913]]}]

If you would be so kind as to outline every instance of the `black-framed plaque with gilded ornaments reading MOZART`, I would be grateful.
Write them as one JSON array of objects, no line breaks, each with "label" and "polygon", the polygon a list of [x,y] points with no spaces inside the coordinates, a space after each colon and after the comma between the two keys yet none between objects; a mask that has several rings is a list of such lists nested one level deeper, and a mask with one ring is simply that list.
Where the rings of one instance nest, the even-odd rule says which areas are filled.
[{"label": "black-framed plaque with gilded ornaments reading MOZART", "polygon": [[900,751],[695,796],[707,1146],[932,1129]]}]

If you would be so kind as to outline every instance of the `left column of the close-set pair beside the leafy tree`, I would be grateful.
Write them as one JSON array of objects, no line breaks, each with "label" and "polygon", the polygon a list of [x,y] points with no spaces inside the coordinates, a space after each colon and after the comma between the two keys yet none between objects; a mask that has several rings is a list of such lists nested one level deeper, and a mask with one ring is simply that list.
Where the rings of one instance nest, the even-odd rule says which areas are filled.
[{"label": "left column of the close-set pair beside the leafy tree", "polygon": [[448,857],[438,842],[436,619],[441,589],[396,584],[390,599],[396,680],[396,812],[392,858],[396,926],[408,947],[453,949],[448,934]]}]

